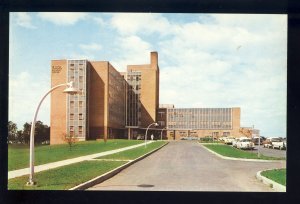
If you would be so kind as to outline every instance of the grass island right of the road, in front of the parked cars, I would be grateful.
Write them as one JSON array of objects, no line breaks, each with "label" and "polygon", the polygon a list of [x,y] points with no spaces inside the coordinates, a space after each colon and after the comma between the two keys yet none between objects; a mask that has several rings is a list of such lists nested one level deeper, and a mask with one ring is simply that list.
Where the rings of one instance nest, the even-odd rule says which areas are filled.
[{"label": "grass island right of the road, in front of the parked cars", "polygon": [[268,157],[264,155],[260,155],[260,157],[258,157],[257,153],[246,152],[224,144],[204,144],[204,146],[226,157],[245,158],[245,159],[265,159],[265,160],[284,159],[284,158]]}]

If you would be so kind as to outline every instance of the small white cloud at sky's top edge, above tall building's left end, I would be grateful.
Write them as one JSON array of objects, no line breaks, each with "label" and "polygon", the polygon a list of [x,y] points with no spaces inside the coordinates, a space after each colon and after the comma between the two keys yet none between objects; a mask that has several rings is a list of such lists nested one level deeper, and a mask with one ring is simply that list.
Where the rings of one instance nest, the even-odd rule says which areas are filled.
[{"label": "small white cloud at sky's top edge, above tall building's left end", "polygon": [[41,12],[38,17],[43,20],[50,21],[56,25],[74,25],[77,21],[85,19],[86,13],[73,12]]}]

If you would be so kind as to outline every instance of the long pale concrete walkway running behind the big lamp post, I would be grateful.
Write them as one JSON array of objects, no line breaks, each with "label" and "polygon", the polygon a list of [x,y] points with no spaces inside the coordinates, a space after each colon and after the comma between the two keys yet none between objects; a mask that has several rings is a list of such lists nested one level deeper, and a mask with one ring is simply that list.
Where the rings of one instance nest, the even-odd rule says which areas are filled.
[{"label": "long pale concrete walkway running behind the big lamp post", "polygon": [[[150,144],[152,142],[153,141],[148,141],[147,144]],[[96,154],[85,155],[85,156],[76,157],[76,158],[72,158],[72,159],[66,159],[66,160],[61,160],[61,161],[57,161],[57,162],[42,164],[42,165],[39,165],[39,166],[35,166],[34,167],[34,172],[36,173],[36,172],[45,171],[45,170],[49,170],[49,169],[54,169],[54,168],[69,165],[69,164],[74,164],[74,163],[77,163],[77,162],[82,162],[82,161],[85,161],[85,160],[94,159],[94,158],[101,157],[101,156],[115,154],[115,153],[118,153],[118,152],[126,151],[126,150],[133,149],[133,148],[136,148],[136,147],[140,147],[140,146],[143,146],[143,145],[145,145],[145,143],[141,143],[141,144],[133,145],[133,146],[129,146],[129,147],[123,147],[123,148],[120,148],[120,149],[110,150],[110,151],[106,151],[106,152],[100,152],[100,153],[96,153]],[[12,179],[12,178],[19,177],[19,176],[24,176],[24,175],[29,175],[29,173],[30,173],[29,168],[9,171],[8,172],[8,179]]]}]

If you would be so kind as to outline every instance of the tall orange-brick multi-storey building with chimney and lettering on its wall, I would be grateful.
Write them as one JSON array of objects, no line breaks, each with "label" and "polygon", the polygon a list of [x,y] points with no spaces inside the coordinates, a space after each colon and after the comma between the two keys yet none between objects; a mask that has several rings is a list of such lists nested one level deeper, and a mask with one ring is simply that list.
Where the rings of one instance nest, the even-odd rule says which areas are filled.
[{"label": "tall orange-brick multi-storey building with chimney and lettering on its wall", "polygon": [[159,101],[157,52],[150,64],[130,65],[118,72],[107,61],[52,60],[51,87],[74,81],[81,93],[51,94],[50,144],[67,137],[89,139],[131,138],[156,121]]}]

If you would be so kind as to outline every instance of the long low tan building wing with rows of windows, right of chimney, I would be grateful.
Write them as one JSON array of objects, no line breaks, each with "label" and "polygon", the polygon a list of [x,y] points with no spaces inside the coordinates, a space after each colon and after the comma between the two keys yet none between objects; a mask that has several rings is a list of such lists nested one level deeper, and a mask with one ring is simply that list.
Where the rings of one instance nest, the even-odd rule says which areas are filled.
[{"label": "long low tan building wing with rows of windows, right of chimney", "polygon": [[[179,140],[183,137],[221,136],[240,137],[240,108],[174,108],[160,105],[158,122],[166,128],[164,137]],[[161,120],[161,121],[159,121]]]}]

